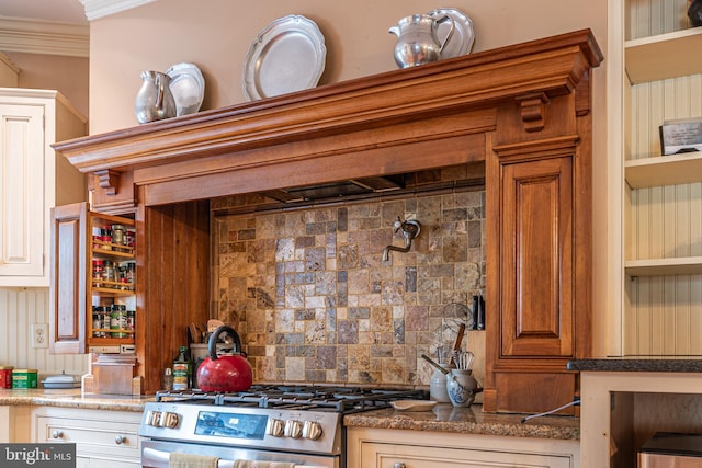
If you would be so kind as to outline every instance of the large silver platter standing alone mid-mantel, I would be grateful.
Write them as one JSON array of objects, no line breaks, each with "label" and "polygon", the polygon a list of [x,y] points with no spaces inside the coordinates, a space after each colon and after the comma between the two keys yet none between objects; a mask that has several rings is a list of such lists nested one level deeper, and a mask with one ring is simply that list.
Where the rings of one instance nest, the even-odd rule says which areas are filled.
[{"label": "large silver platter standing alone mid-mantel", "polygon": [[325,69],[327,48],[317,24],[301,15],[270,23],[251,43],[241,84],[249,101],[314,88]]}]

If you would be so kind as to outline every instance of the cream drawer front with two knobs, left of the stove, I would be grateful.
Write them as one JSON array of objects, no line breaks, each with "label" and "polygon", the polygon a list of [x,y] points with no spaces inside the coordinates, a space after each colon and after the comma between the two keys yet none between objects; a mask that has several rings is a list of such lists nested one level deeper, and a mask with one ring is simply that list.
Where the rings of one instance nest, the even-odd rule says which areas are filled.
[{"label": "cream drawer front with two knobs, left of the stove", "polygon": [[69,418],[38,416],[37,442],[72,442],[82,454],[139,458],[138,424]]}]

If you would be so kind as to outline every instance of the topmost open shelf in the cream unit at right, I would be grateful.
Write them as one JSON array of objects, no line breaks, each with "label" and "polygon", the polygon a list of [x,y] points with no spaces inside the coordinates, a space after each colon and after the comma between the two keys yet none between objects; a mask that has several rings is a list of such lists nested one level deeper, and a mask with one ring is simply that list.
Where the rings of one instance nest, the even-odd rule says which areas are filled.
[{"label": "topmost open shelf in the cream unit at right", "polygon": [[632,84],[702,73],[702,27],[626,41],[624,59]]}]

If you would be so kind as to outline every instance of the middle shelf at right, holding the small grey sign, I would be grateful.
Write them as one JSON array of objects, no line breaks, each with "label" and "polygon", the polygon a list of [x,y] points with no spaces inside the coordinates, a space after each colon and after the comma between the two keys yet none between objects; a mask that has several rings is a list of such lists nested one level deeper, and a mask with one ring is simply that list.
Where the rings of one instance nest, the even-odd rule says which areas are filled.
[{"label": "middle shelf at right, holding the small grey sign", "polygon": [[702,152],[686,152],[624,162],[632,189],[689,184],[702,181]]}]

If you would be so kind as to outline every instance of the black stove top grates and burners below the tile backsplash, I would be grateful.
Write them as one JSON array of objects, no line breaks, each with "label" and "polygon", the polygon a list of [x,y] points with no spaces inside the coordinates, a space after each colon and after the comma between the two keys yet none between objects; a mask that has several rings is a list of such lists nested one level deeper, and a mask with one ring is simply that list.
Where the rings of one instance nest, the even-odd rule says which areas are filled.
[{"label": "black stove top grates and burners below the tile backsplash", "polygon": [[394,400],[423,400],[424,390],[320,385],[254,385],[246,391],[206,393],[159,391],[157,402],[237,408],[275,408],[351,413],[386,408]]}]

